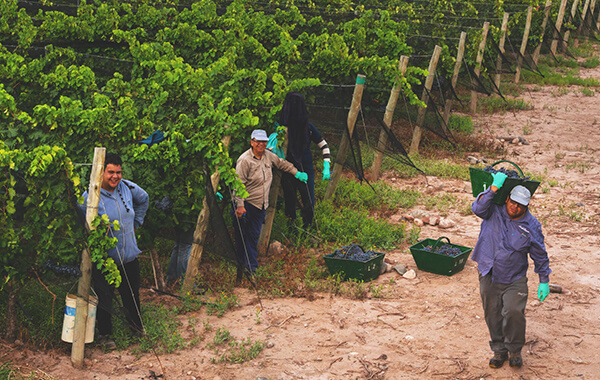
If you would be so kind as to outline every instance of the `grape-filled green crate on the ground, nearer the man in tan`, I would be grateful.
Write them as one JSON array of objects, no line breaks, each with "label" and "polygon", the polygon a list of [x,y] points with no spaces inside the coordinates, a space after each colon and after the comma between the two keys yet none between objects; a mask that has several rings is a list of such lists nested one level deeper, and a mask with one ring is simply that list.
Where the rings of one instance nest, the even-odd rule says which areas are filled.
[{"label": "grape-filled green crate on the ground, nearer the man in tan", "polygon": [[340,274],[344,280],[368,282],[379,277],[385,253],[364,251],[359,245],[350,244],[323,256],[331,274]]}]

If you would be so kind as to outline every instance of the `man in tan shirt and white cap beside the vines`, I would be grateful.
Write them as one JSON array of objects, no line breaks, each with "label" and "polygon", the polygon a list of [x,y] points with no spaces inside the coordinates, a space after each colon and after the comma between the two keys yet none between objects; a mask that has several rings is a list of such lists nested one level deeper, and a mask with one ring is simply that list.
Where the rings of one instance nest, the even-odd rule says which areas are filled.
[{"label": "man in tan shirt and white cap beside the vines", "polygon": [[254,273],[258,268],[258,237],[265,221],[265,210],[269,207],[269,190],[273,182],[273,166],[293,175],[296,180],[306,183],[308,175],[269,150],[269,137],[262,129],[252,131],[251,148],[237,160],[235,171],[246,186],[248,197],[242,199],[234,195],[235,203],[235,242],[238,263]]}]

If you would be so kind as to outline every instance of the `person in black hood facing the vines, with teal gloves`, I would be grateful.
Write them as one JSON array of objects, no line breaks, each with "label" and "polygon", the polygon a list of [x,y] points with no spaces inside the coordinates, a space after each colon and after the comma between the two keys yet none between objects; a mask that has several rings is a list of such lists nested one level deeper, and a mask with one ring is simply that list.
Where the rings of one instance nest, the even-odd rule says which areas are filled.
[{"label": "person in black hood facing the vines, with teal gloves", "polygon": [[[308,121],[306,103],[298,92],[289,92],[286,95],[277,124],[288,129],[288,146],[285,159],[294,164],[296,169],[308,174],[306,184],[299,182],[290,174],[282,174],[281,185],[285,200],[285,215],[290,222],[296,219],[297,194],[300,193],[302,202],[300,214],[304,228],[308,228],[314,218],[315,208],[315,170],[310,143],[317,144],[323,154],[324,181],[330,179],[331,153],[329,146],[317,128]],[[269,148],[273,149],[274,147],[273,143],[269,144]],[[281,158],[283,157],[281,156]]]}]

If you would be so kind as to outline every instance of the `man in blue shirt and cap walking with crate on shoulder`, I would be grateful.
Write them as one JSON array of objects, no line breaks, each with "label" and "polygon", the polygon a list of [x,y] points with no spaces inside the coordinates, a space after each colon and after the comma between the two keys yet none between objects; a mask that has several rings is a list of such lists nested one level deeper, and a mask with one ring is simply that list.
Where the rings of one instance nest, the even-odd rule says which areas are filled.
[{"label": "man in blue shirt and cap walking with crate on shoulder", "polygon": [[521,367],[525,344],[525,306],[527,304],[527,254],[539,276],[538,298],[550,293],[548,253],[540,222],[529,212],[531,193],[515,186],[506,204],[492,203],[506,174],[493,174],[493,184],[479,194],[471,209],[483,219],[479,239],[471,258],[479,270],[479,290],[485,322],[490,332],[494,357],[490,367],[500,368],[509,359],[511,367]]}]

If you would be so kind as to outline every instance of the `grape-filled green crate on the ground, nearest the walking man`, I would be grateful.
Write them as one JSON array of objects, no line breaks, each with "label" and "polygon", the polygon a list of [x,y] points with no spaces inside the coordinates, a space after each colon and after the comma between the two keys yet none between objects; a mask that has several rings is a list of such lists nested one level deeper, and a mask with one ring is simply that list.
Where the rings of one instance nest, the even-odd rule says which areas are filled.
[{"label": "grape-filled green crate on the ground, nearest the walking man", "polygon": [[[443,239],[448,242],[444,243]],[[473,250],[470,247],[451,244],[450,239],[445,236],[437,240],[421,240],[409,249],[419,270],[444,276],[452,276],[463,270]]]}]

